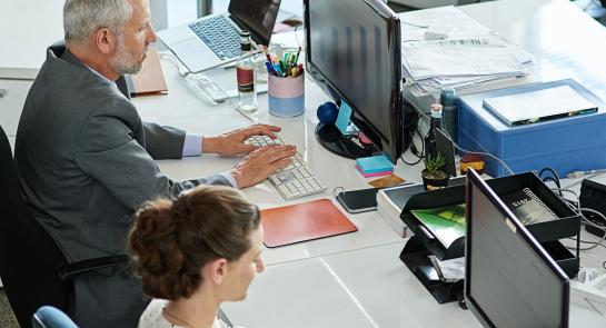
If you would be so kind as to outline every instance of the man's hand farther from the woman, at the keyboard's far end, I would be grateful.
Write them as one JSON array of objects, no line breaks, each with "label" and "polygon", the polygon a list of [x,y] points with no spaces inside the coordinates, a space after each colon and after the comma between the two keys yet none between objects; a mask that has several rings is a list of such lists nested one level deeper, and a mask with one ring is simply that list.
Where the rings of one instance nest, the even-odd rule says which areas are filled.
[{"label": "man's hand farther from the woman, at the keyboard's far end", "polygon": [[202,150],[207,153],[218,153],[222,156],[234,156],[240,153],[250,153],[258,149],[258,146],[245,145],[246,139],[252,136],[268,136],[276,139],[274,132],[281,129],[269,125],[255,125],[248,128],[238,129],[218,137],[208,137],[202,140]]}]

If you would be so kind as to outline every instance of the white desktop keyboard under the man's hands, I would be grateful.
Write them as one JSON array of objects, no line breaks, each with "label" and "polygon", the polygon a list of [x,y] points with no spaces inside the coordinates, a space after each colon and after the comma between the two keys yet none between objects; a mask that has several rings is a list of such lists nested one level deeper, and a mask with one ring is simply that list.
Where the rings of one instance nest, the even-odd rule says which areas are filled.
[{"label": "white desktop keyboard under the man's hands", "polygon": [[[267,136],[252,136],[247,142],[255,146],[285,145],[280,136],[277,139]],[[269,176],[268,180],[276,187],[284,199],[290,200],[326,190],[318,178],[311,172],[300,153],[292,157],[292,162]]]}]

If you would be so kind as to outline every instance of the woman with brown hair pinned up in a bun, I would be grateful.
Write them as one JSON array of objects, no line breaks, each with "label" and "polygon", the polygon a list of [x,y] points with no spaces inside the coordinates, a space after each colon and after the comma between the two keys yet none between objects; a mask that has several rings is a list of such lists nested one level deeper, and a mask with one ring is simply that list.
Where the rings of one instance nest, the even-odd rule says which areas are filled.
[{"label": "woman with brown hair pinned up in a bun", "polygon": [[226,327],[219,305],[245,299],[264,270],[259,221],[257,206],[228,187],[146,203],[128,238],[143,292],[155,298],[139,327]]}]

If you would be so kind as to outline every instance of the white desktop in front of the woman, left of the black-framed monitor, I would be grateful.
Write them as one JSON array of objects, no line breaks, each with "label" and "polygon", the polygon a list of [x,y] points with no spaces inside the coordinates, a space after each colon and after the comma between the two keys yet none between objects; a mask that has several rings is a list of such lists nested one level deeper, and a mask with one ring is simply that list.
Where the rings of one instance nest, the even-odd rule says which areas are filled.
[{"label": "white desktop in front of the woman, left of the black-framed monitor", "polygon": [[[234,324],[261,327],[481,327],[457,302],[437,304],[388,245],[267,267],[244,302],[223,304]],[[606,318],[574,302],[570,327]]]}]

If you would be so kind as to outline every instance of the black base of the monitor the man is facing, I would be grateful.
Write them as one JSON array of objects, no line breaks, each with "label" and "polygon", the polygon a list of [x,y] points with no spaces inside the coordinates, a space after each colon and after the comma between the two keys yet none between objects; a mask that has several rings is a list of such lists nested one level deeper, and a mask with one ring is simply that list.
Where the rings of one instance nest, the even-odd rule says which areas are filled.
[{"label": "black base of the monitor the man is facing", "polygon": [[355,136],[344,136],[335,125],[319,122],[316,126],[316,138],[328,151],[346,158],[360,158],[372,156],[378,150],[375,146],[368,148],[355,142]]}]

